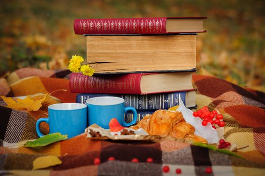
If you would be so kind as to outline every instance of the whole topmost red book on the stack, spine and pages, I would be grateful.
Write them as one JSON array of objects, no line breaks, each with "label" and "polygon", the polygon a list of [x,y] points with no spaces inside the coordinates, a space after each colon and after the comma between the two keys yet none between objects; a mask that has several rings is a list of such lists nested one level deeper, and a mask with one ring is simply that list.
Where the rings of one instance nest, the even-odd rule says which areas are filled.
[{"label": "whole topmost red book on the stack, spine and pages", "polygon": [[206,32],[206,17],[76,19],[75,34],[168,34]]}]

